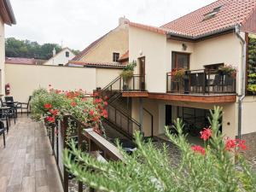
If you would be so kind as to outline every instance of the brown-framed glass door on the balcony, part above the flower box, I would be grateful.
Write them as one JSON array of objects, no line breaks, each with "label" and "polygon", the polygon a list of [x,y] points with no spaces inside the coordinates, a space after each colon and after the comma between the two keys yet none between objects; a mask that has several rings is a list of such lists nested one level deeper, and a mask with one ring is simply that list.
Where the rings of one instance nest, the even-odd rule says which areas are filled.
[{"label": "brown-framed glass door on the balcony, part above the flower box", "polygon": [[172,69],[174,68],[189,69],[189,54],[172,52]]}]

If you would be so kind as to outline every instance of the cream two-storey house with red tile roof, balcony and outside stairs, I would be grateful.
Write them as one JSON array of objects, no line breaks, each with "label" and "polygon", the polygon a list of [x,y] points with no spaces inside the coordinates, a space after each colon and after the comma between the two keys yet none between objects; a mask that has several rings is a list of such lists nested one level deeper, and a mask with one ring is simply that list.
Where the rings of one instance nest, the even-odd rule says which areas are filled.
[{"label": "cream two-storey house with red tile roof, balcony and outside stairs", "polygon": [[[255,156],[255,20],[255,0],[218,0],[160,27],[129,22],[128,57],[137,67],[131,79],[102,90],[112,101],[108,122],[126,136],[141,130],[166,139],[165,125],[173,131],[178,117],[189,141],[199,143],[209,109],[221,106],[220,131],[245,139],[247,157]],[[119,97],[130,98],[125,118],[116,114]]]}]

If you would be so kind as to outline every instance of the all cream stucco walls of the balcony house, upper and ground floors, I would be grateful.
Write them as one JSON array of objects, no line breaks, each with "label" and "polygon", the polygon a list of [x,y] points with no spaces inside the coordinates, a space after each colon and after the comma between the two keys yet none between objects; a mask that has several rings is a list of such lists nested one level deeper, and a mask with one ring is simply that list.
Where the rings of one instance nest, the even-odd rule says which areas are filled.
[{"label": "all cream stucco walls of the balcony house, upper and ground floors", "polygon": [[[240,32],[245,39],[245,33]],[[150,39],[150,40],[149,40]],[[186,44],[186,49],[183,49]],[[166,35],[158,32],[151,32],[139,27],[131,26],[129,29],[129,60],[138,61],[138,58],[145,57],[146,90],[153,93],[166,93],[166,73],[172,71],[172,51],[189,53],[189,69],[204,69],[205,65],[224,63],[237,68],[236,92],[241,94],[241,66],[242,46],[235,32],[220,35],[215,38],[208,38],[203,41],[191,43],[166,39]],[[139,73],[138,66],[135,69]],[[214,106],[224,108],[223,132],[227,137],[235,138],[238,130],[238,102],[227,103],[200,103],[200,102],[172,102],[142,98],[132,99],[132,118],[140,120],[139,105],[143,103],[154,116],[154,136],[164,132],[166,120],[166,105],[175,107],[213,109]],[[254,134],[256,132],[256,120],[253,118],[253,108],[256,108],[256,99],[253,96],[246,96],[242,104],[241,134]],[[172,117],[175,119],[176,117]],[[145,136],[151,136],[151,117],[143,110],[143,131]]]}]

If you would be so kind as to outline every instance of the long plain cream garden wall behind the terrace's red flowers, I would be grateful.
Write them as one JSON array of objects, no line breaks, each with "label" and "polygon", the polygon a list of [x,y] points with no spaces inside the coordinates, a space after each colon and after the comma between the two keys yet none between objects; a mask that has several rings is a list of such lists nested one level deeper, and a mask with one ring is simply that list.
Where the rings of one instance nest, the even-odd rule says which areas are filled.
[{"label": "long plain cream garden wall behind the terrace's red flowers", "polygon": [[27,102],[33,90],[48,88],[49,84],[58,90],[83,89],[91,93],[96,87],[107,85],[120,72],[116,69],[21,64],[5,64],[5,70],[5,82],[10,84],[11,89],[10,96],[14,96],[18,102]]}]

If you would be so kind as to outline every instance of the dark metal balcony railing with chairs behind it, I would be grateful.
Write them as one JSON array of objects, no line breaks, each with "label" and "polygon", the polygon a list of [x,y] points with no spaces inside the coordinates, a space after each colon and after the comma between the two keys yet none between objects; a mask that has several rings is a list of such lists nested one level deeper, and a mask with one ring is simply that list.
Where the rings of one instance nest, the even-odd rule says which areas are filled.
[{"label": "dark metal balcony railing with chairs behind it", "polygon": [[179,77],[167,73],[166,91],[179,94],[235,94],[236,78],[207,69],[185,71]]}]

